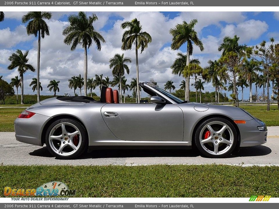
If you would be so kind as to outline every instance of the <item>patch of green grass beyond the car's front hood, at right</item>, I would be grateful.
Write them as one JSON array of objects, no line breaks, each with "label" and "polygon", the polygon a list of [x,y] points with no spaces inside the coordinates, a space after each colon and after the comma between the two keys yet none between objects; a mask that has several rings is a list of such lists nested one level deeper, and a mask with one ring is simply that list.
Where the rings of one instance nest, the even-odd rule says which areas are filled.
[{"label": "patch of green grass beyond the car's front hood, at right", "polygon": [[245,109],[248,113],[253,115],[256,118],[259,118],[267,126],[279,126],[279,109],[277,105],[270,105],[270,111],[267,111],[267,106],[249,106],[243,105],[240,106]]}]

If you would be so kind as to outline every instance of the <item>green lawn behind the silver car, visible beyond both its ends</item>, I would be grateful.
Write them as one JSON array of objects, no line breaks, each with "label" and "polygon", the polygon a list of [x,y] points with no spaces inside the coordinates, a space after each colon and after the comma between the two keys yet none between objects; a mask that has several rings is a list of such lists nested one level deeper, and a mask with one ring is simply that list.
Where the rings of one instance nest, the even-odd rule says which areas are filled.
[{"label": "green lawn behind the silver car, visible beyond both its ends", "polygon": [[[16,105],[11,105],[11,107],[12,106],[16,106]],[[279,110],[275,105],[270,106],[270,111],[266,111],[267,108],[266,106],[240,106],[240,107],[245,109],[249,113],[251,113],[256,118],[259,118],[260,120],[265,122],[267,126],[279,126]],[[14,131],[13,122],[23,110],[24,110],[23,108],[0,108],[0,132]]]}]

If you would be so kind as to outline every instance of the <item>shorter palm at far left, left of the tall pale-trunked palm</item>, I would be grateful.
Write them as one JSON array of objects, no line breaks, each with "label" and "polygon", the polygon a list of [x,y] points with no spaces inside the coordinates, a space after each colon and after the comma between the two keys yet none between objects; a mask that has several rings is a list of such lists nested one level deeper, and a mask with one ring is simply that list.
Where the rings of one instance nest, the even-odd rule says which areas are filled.
[{"label": "shorter palm at far left, left of the tall pale-trunked palm", "polygon": [[9,57],[9,61],[11,64],[7,67],[8,70],[13,70],[17,68],[17,71],[19,72],[20,80],[21,80],[21,104],[23,104],[23,74],[26,73],[26,71],[30,70],[32,72],[35,72],[35,68],[33,65],[28,64],[28,55],[29,51],[25,51],[25,53],[22,53],[21,50],[17,50],[15,53],[12,53]]}]

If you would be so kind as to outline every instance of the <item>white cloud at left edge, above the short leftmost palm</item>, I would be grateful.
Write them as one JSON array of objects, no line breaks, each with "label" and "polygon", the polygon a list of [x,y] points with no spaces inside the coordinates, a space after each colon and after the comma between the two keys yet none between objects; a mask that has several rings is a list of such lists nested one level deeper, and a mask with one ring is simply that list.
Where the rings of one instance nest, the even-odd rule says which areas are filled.
[{"label": "white cloud at left edge, above the short leftmost palm", "polygon": [[24,25],[19,25],[15,30],[10,30],[10,28],[4,28],[0,30],[0,46],[2,47],[12,47],[20,42],[29,41],[33,36],[28,36],[26,34],[26,28]]}]

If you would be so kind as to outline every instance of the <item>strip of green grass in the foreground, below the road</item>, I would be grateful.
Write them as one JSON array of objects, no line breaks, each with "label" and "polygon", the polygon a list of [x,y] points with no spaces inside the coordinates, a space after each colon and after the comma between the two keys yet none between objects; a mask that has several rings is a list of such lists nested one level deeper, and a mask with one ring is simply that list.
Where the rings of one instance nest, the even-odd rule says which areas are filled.
[{"label": "strip of green grass in the foreground, below the road", "polygon": [[62,181],[76,197],[279,197],[277,166],[0,166],[0,176],[2,189]]}]

